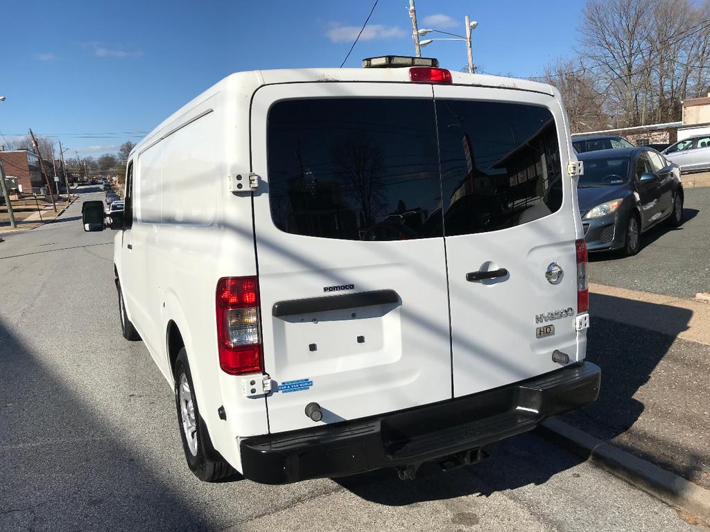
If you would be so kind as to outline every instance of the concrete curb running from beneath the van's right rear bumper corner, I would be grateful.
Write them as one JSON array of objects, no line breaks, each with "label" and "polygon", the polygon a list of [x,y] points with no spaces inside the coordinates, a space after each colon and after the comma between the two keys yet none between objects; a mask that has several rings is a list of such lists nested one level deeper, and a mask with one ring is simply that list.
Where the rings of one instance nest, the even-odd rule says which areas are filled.
[{"label": "concrete curb running from beneath the van's right rear bumper corner", "polygon": [[707,489],[559,419],[544,421],[537,431],[612,475],[710,526],[710,491]]}]

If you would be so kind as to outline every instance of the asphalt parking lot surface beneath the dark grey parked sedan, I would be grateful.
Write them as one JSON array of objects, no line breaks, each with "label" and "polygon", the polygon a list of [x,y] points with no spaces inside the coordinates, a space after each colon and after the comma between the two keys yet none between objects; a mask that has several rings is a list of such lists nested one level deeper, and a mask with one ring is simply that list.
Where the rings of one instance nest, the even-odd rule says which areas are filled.
[{"label": "asphalt parking lot surface beneath the dark grey parked sedan", "polygon": [[685,190],[685,221],[662,223],[641,237],[634,257],[591,253],[591,281],[615,287],[693,297],[710,291],[710,187]]}]

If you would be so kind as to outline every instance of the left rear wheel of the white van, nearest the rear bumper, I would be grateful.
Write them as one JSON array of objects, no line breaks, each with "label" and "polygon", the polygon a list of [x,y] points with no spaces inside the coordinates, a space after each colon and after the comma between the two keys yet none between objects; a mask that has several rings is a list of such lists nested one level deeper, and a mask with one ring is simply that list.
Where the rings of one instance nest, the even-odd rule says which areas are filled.
[{"label": "left rear wheel of the white van, nearest the rear bumper", "polygon": [[212,446],[194,390],[187,351],[182,348],[175,361],[175,406],[185,460],[195,477],[205,482],[216,482],[234,475],[236,471]]}]

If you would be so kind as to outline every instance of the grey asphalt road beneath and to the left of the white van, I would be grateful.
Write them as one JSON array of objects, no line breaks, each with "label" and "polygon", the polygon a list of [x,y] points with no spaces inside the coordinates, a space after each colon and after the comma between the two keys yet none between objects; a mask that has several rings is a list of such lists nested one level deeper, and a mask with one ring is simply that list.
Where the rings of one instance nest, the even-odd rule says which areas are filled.
[{"label": "grey asphalt road beneath and to the left of the white van", "polygon": [[414,482],[199,482],[170,388],[121,338],[112,233],[79,214],[0,244],[0,531],[701,530],[535,434]]}]

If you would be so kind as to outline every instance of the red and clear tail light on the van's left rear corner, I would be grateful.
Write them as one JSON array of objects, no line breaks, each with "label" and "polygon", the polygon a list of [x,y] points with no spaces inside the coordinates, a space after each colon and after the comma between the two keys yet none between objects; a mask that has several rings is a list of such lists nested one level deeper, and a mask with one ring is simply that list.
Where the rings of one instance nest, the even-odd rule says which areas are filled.
[{"label": "red and clear tail light on the van's left rear corner", "polygon": [[219,367],[229,375],[263,372],[257,277],[222,277],[217,282]]}]

